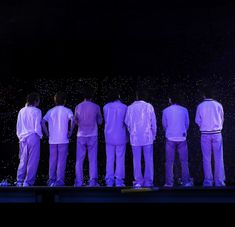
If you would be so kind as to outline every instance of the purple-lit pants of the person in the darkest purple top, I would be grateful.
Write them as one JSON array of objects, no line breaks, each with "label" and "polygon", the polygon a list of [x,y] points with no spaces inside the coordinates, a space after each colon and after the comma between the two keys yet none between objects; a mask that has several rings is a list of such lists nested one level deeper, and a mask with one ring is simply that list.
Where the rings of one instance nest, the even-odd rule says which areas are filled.
[{"label": "purple-lit pants of the person in the darkest purple top", "polygon": [[75,185],[81,186],[83,184],[83,163],[88,150],[89,160],[89,177],[90,181],[98,179],[97,167],[97,151],[98,140],[97,136],[92,137],[78,137],[77,138],[77,154],[76,154],[76,180]]}]

